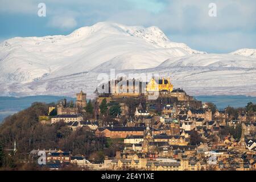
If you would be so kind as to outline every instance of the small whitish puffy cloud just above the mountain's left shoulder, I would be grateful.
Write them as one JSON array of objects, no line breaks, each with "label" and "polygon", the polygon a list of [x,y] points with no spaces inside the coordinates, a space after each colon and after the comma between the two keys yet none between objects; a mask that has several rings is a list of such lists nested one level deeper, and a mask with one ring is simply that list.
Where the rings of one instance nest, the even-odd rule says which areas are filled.
[{"label": "small whitish puffy cloud just above the mountain's left shoulder", "polygon": [[48,26],[61,29],[71,29],[77,26],[76,19],[72,16],[53,16]]}]

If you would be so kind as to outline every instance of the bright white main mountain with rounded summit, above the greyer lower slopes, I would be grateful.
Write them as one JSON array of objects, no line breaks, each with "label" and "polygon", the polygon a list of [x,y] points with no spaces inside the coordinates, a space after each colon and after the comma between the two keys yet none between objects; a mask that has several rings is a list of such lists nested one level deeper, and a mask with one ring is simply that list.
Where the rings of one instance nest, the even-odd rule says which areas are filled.
[{"label": "bright white main mountain with rounded summit, above the greyer lower slopes", "polygon": [[191,53],[203,52],[170,42],[159,28],[102,22],[67,36],[6,40],[0,45],[0,76],[4,81],[25,83],[47,75],[90,71],[108,61],[113,64],[118,57],[123,60],[118,69],[153,68],[170,57]]}]

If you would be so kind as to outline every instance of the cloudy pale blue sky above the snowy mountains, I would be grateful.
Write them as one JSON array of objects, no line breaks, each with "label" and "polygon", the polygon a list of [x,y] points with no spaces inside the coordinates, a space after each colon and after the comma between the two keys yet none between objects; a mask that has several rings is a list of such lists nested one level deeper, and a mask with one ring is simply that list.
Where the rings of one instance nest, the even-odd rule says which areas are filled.
[{"label": "cloudy pale blue sky above the snowy mountains", "polygon": [[[38,4],[46,4],[46,17]],[[216,3],[217,17],[208,15]],[[15,36],[69,34],[111,21],[157,26],[170,40],[209,53],[256,48],[254,0],[0,0],[0,42]]]}]

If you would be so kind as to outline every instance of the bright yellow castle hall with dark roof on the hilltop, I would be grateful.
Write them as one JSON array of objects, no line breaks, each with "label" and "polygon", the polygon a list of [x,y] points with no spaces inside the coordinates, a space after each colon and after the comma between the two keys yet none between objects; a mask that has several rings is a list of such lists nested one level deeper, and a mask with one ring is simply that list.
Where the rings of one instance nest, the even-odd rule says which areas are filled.
[{"label": "bright yellow castle hall with dark roof on the hilltop", "polygon": [[155,78],[151,78],[150,82],[147,83],[147,92],[172,92],[174,85],[171,84],[170,78],[161,78],[158,82]]}]

